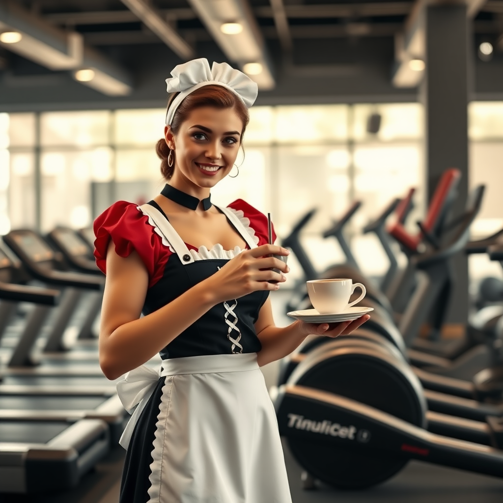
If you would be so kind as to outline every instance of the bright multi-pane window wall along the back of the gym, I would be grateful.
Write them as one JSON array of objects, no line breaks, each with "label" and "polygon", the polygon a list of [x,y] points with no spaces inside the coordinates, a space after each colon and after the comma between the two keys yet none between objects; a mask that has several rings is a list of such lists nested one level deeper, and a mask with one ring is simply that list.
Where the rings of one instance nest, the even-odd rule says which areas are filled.
[{"label": "bright multi-pane window wall along the back of the gym", "polygon": [[[371,133],[368,121],[376,114],[380,127]],[[473,227],[482,237],[503,227],[503,103],[472,103],[469,117],[470,185],[487,185]],[[0,114],[0,234],[24,226],[86,227],[114,201],[152,198],[164,183],[154,148],[163,125],[164,109]],[[302,238],[318,270],[344,261],[321,232],[360,200],[348,238],[362,270],[380,275],[386,258],[361,229],[415,187],[408,223],[415,230],[425,209],[423,128],[416,103],[254,107],[239,176],[219,184],[213,199],[226,205],[242,198],[271,212],[280,238],[317,208]],[[496,264],[474,260],[485,260],[472,268],[475,274],[498,274]],[[291,265],[290,278],[300,277],[294,259]]]}]

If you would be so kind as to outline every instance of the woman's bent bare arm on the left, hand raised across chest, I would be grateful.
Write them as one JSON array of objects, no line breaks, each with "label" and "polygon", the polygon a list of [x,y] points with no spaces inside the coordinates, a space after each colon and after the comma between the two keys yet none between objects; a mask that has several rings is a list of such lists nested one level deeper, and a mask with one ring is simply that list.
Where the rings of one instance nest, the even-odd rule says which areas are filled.
[{"label": "woman's bent bare arm on the left, hand raised across chest", "polygon": [[144,364],[205,312],[226,299],[256,290],[276,290],[285,278],[270,268],[286,265],[270,254],[288,251],[264,244],[240,253],[218,272],[143,318],[148,273],[136,251],[119,257],[110,242],[100,327],[100,366],[109,379]]}]

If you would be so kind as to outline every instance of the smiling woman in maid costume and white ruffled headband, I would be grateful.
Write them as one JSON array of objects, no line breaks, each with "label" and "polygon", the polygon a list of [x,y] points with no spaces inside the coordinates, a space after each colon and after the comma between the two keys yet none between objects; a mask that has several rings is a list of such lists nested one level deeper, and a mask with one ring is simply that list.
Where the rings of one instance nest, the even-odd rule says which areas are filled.
[{"label": "smiling woman in maid costume and white ruffled headband", "polygon": [[[157,144],[169,184],[153,201],[119,201],[95,222],[95,255],[107,274],[100,365],[109,379],[130,371],[117,387],[134,409],[121,439],[120,502],[290,503],[259,367],[310,333],[337,337],[368,316],[274,325],[268,295],[289,268],[271,255],[288,250],[268,244],[267,219],[252,206],[210,200],[232,170],[257,85],[206,59],[172,75]],[[158,372],[143,366],[156,353]]]}]

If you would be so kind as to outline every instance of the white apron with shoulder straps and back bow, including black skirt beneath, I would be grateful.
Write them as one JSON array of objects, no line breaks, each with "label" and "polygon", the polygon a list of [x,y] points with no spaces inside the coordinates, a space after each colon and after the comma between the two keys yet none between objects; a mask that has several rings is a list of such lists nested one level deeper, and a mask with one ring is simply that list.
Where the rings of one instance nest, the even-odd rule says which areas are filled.
[{"label": "white apron with shoulder straps and back bow, including black skirt beneath", "polygon": [[[155,208],[144,211],[179,257],[193,258]],[[239,219],[233,224],[246,239]],[[141,366],[117,392],[133,412],[120,441],[128,449],[120,503],[291,503],[256,353],[172,358],[158,372]]]}]

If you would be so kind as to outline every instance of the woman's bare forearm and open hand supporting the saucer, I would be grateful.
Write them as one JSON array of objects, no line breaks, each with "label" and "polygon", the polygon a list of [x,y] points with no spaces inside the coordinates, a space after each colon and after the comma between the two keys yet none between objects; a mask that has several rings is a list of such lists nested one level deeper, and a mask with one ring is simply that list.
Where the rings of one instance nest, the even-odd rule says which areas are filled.
[{"label": "woman's bare forearm and open hand supporting the saucer", "polygon": [[281,360],[295,351],[309,334],[326,337],[347,335],[369,318],[370,316],[366,314],[354,321],[330,323],[330,325],[328,323],[304,323],[296,320],[284,328],[279,328],[274,324],[271,298],[268,298],[255,323],[257,335],[262,343],[262,350],[258,353],[259,365],[263,366]]}]

